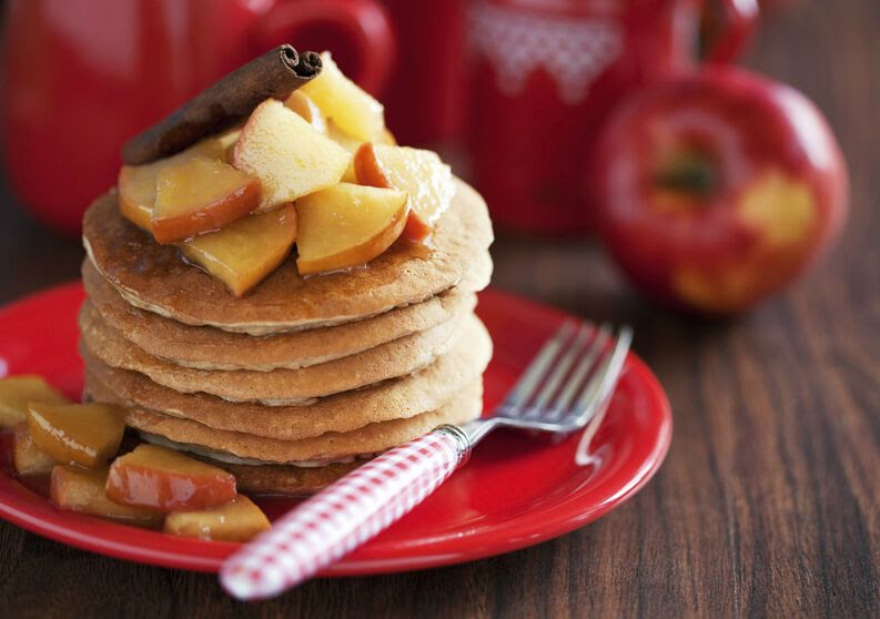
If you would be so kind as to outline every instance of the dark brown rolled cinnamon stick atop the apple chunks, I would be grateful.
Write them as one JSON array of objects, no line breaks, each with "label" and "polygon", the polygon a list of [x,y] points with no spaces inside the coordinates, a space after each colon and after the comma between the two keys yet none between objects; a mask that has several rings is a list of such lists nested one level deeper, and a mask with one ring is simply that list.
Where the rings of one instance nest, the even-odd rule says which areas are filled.
[{"label": "dark brown rolled cinnamon stick atop the apple chunks", "polygon": [[321,73],[321,57],[279,45],[208,87],[122,148],[129,165],[172,155],[244,120],[269,98],[283,99]]}]

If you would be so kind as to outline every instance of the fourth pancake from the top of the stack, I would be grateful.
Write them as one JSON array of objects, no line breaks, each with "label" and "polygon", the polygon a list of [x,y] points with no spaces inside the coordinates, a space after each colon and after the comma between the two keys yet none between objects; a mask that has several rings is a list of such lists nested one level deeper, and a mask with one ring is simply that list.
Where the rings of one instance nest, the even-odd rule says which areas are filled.
[{"label": "fourth pancake from the top of the stack", "polygon": [[101,402],[139,406],[216,429],[297,440],[413,417],[442,406],[481,377],[492,357],[492,339],[475,321],[447,354],[425,369],[405,378],[321,398],[304,407],[233,404],[205,394],[182,394],[153,383],[143,374],[112,368],[84,348],[81,353],[85,385]]}]

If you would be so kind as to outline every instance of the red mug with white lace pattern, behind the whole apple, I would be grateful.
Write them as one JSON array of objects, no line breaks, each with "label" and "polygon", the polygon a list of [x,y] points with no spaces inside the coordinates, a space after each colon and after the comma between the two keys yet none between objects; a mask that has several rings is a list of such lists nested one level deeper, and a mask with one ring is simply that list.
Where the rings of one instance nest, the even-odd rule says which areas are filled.
[{"label": "red mug with white lace pattern, behind the whole apple", "polygon": [[[707,59],[732,60],[755,0],[724,0]],[[590,229],[584,170],[605,118],[628,93],[690,70],[699,0],[475,0],[469,129],[474,179],[499,226]]]}]

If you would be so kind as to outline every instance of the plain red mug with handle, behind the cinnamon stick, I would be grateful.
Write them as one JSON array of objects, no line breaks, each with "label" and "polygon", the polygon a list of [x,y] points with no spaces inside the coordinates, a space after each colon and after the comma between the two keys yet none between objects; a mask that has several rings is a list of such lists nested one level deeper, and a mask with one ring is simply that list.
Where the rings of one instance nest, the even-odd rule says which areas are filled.
[{"label": "plain red mug with handle, behind the cinnamon stick", "polygon": [[393,69],[374,0],[10,0],[0,134],[13,191],[78,234],[128,138],[280,42],[334,50],[373,92]]}]

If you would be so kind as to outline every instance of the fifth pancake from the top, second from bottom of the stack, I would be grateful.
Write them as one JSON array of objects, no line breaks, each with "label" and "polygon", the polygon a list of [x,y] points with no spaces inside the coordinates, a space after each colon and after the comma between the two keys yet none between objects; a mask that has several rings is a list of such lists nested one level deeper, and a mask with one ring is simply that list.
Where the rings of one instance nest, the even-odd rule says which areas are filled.
[{"label": "fifth pancake from the top, second from bottom of the stack", "polygon": [[[90,394],[101,400],[101,394]],[[325,433],[301,440],[280,440],[251,434],[209,428],[196,422],[162,415],[145,408],[131,408],[125,423],[149,435],[158,435],[181,444],[186,450],[208,447],[240,458],[264,463],[295,464],[354,458],[373,455],[412,440],[442,424],[463,424],[483,412],[483,380],[459,389],[455,397],[435,410],[409,418],[368,424],[346,433]]]}]

